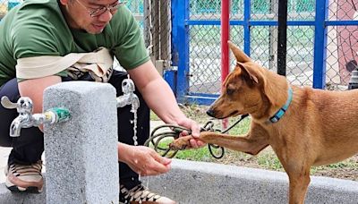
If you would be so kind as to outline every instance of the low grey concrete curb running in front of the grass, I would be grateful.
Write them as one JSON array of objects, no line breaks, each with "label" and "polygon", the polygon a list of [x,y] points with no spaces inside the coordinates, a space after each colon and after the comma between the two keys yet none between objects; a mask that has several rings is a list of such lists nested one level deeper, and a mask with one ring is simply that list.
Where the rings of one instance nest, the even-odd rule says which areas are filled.
[{"label": "low grey concrete curb running in front of the grass", "polygon": [[[168,174],[143,177],[143,184],[179,203],[287,203],[285,173],[173,159]],[[42,204],[45,193],[18,194],[0,184],[0,203]],[[356,204],[358,182],[311,176],[306,203]]]}]

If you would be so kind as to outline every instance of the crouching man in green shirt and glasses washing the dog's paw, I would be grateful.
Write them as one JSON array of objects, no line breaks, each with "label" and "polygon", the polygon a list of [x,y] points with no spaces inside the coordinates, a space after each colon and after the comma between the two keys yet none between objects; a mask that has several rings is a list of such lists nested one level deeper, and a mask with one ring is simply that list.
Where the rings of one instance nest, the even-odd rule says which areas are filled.
[{"label": "crouching man in green shirt and glasses washing the dog's paw", "polygon": [[[194,136],[199,136],[200,126],[177,106],[173,92],[149,60],[132,13],[118,0],[26,0],[0,21],[0,36],[0,98],[7,96],[16,101],[20,96],[30,97],[34,113],[39,113],[43,90],[48,86],[72,80],[104,81],[114,85],[117,94],[122,95],[121,82],[128,73],[141,98],[137,128],[140,145],[149,137],[149,108],[164,122],[190,128]],[[100,47],[108,51],[107,55],[115,56],[126,72],[103,68],[96,62],[93,72],[84,71],[81,65],[61,67],[54,63],[68,59],[69,54],[93,53]],[[97,69],[105,74],[98,76]],[[43,186],[43,133],[32,127],[22,130],[21,137],[10,138],[10,123],[16,116],[15,110],[0,106],[0,146],[13,147],[6,186],[12,191],[39,192]],[[118,108],[120,200],[140,196],[143,201],[174,202],[141,185],[137,173],[166,173],[171,160],[147,147],[133,146],[130,120],[130,107]],[[193,148],[202,145],[199,140],[192,140]]]}]

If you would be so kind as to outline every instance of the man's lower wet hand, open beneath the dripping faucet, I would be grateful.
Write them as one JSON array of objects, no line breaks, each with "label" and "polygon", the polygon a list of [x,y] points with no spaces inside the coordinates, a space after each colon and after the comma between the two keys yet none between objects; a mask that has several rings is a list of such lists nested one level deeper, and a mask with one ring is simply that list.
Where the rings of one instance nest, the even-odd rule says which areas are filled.
[{"label": "man's lower wet hand, open beneath the dripping faucet", "polygon": [[137,174],[158,175],[168,172],[171,159],[161,157],[158,153],[144,146],[118,144],[118,158],[130,166]]}]

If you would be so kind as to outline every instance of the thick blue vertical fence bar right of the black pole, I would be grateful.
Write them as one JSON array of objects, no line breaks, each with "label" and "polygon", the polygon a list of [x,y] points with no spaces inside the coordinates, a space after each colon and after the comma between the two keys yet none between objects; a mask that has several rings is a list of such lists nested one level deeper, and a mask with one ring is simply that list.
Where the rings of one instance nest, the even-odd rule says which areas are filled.
[{"label": "thick blue vertical fence bar right of the black pole", "polygon": [[324,89],[326,86],[327,58],[327,26],[328,0],[316,1],[316,19],[314,30],[314,63],[313,63],[313,88]]}]

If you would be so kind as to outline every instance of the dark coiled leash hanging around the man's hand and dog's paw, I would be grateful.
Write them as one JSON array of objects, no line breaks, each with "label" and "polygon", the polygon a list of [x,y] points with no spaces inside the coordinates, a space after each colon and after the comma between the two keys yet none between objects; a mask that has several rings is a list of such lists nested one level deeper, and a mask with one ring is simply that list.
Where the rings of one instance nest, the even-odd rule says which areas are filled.
[{"label": "dark coiled leash hanging around the man's hand and dog's paw", "polygon": [[[240,123],[247,116],[249,116],[249,115],[241,115],[239,120],[237,120],[235,123],[230,125],[224,131],[215,129],[214,122],[209,121],[209,122],[205,123],[205,125],[203,127],[200,128],[200,132],[226,133],[226,132],[230,131],[232,128],[234,128],[234,126],[236,124]],[[175,157],[178,150],[172,150],[169,148],[168,145],[163,145],[163,144],[165,144],[165,142],[162,145],[159,145],[159,144],[161,143],[162,140],[164,141],[169,138],[173,138],[173,140],[175,140],[175,139],[179,138],[179,134],[183,131],[186,131],[189,134],[191,134],[191,132],[192,132],[190,129],[184,128],[179,125],[173,125],[173,124],[159,125],[150,133],[150,137],[148,140],[146,140],[146,142],[144,143],[144,146],[149,147],[149,144],[152,144],[153,149],[156,152],[158,152],[158,154],[161,155],[162,157],[168,157],[168,158]],[[208,144],[208,149],[209,149],[209,152],[212,157],[215,157],[217,159],[224,157],[225,149],[223,147],[220,147],[215,144]],[[219,154],[214,153],[213,149],[220,149]]]}]

